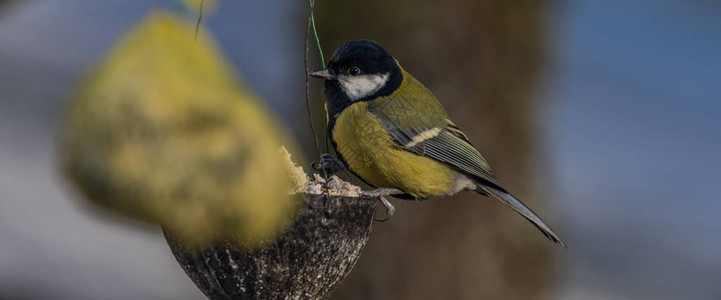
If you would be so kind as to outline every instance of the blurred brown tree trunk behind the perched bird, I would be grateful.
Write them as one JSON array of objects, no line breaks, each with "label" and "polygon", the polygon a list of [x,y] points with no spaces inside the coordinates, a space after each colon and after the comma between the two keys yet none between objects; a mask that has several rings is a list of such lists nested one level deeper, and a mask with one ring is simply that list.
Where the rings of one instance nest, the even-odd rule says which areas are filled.
[{"label": "blurred brown tree trunk behind the perched bird", "polygon": [[[552,221],[530,188],[545,8],[321,0],[316,16],[326,57],[351,39],[383,44],[440,99],[506,187]],[[495,199],[462,193],[394,204],[396,215],[376,227],[335,299],[530,299],[551,283],[554,245]]]}]

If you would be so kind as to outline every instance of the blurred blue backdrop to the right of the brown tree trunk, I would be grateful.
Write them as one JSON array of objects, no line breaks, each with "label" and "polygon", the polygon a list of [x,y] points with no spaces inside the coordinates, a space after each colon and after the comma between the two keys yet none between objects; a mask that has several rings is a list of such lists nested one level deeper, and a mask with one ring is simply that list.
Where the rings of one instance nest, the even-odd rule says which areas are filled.
[{"label": "blurred blue backdrop to the right of the brown tree trunk", "polygon": [[546,145],[577,239],[569,299],[721,298],[719,13],[587,0],[557,14]]}]

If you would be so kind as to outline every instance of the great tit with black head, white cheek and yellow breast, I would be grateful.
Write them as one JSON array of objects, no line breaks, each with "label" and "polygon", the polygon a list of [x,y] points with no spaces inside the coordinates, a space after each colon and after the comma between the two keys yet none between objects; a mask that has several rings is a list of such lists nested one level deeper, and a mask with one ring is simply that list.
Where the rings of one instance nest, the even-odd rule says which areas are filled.
[{"label": "great tit with black head, white cheek and yellow breast", "polygon": [[[325,69],[328,132],[338,163],[367,184],[426,199],[469,190],[493,195],[565,244],[540,217],[512,196],[435,96],[383,46],[355,40],[341,45]],[[322,160],[330,160],[327,155]]]}]

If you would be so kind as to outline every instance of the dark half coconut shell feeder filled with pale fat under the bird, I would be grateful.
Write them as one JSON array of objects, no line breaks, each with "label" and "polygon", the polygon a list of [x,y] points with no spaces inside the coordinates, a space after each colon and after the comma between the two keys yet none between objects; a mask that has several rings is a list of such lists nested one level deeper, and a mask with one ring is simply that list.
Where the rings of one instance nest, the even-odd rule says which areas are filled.
[{"label": "dark half coconut shell feeder filled with pale fat under the bird", "polygon": [[335,176],[318,179],[298,194],[302,207],[293,224],[264,246],[226,240],[196,248],[167,230],[165,238],[209,299],[327,298],[360,257],[379,199]]}]

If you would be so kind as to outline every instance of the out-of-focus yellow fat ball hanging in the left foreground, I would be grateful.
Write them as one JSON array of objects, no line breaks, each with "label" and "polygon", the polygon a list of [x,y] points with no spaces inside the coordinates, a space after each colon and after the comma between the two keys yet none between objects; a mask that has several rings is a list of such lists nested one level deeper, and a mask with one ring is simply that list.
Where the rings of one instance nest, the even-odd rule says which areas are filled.
[{"label": "out-of-focus yellow fat ball hanging in the left foreground", "polygon": [[[62,131],[85,198],[202,245],[254,245],[293,217],[289,139],[194,24],[152,13],[82,82]],[[297,152],[296,152],[297,153]]]}]

